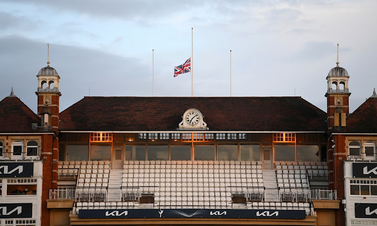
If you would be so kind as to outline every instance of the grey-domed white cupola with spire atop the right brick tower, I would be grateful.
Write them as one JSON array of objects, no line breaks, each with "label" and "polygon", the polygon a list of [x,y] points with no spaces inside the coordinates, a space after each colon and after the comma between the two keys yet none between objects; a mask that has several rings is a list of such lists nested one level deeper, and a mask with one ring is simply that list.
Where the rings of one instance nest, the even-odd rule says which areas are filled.
[{"label": "grey-domed white cupola with spire atop the right brick tower", "polygon": [[326,77],[327,80],[327,96],[329,93],[348,93],[348,79],[349,75],[346,69],[339,66],[339,44],[337,48],[337,62],[336,67],[329,71]]}]

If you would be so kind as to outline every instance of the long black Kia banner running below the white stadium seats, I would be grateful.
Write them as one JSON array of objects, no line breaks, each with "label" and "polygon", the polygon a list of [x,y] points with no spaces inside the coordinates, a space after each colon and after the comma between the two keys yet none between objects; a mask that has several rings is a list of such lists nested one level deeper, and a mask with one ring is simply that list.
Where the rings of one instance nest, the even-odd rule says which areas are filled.
[{"label": "long black Kia banner running below the white stadium seats", "polygon": [[277,209],[80,209],[78,218],[274,218],[305,219],[305,210]]}]

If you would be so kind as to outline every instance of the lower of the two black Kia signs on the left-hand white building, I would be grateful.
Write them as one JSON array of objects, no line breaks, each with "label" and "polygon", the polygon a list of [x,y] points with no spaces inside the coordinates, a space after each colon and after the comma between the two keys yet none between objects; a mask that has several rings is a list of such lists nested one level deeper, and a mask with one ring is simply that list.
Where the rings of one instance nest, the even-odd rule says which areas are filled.
[{"label": "lower of the two black Kia signs on the left-hand white building", "polygon": [[0,204],[0,219],[31,218],[33,203],[2,203]]}]

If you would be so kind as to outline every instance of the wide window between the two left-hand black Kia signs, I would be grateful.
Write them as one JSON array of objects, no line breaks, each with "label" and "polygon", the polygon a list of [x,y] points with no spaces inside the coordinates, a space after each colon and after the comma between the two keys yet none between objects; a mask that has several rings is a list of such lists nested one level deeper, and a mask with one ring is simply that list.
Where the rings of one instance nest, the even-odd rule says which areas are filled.
[{"label": "wide window between the two left-hand black Kia signs", "polygon": [[8,179],[7,195],[36,195],[37,179]]}]

